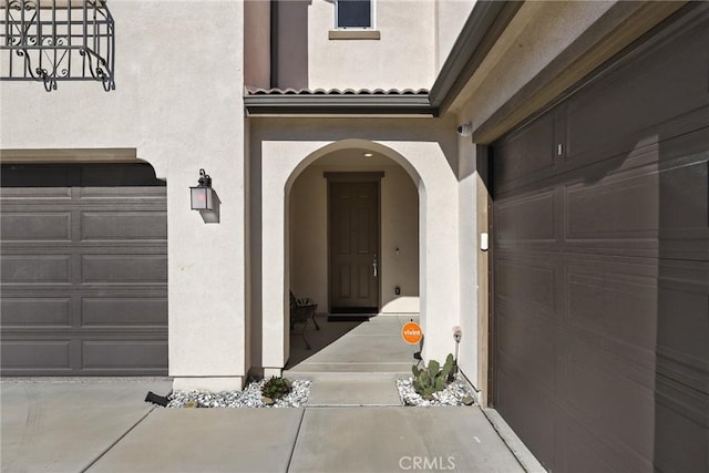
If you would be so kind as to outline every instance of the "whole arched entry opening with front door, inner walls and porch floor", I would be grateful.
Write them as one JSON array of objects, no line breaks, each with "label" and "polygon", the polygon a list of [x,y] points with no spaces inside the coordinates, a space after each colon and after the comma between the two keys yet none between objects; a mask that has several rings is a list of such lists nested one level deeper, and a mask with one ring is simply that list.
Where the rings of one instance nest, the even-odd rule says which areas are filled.
[{"label": "whole arched entry opening with front door, inner walls and porch floor", "polygon": [[[420,310],[419,192],[411,176],[369,147],[336,150],[298,175],[287,199],[289,289],[318,304],[323,328],[296,327],[288,367],[319,367],[332,358],[370,370],[378,361],[382,369],[408,369],[415,350],[398,331]],[[369,327],[358,329],[354,322],[364,320]],[[377,337],[358,338],[363,350],[348,350],[352,342],[339,340],[362,330]],[[330,358],[318,353],[326,347]]]}]

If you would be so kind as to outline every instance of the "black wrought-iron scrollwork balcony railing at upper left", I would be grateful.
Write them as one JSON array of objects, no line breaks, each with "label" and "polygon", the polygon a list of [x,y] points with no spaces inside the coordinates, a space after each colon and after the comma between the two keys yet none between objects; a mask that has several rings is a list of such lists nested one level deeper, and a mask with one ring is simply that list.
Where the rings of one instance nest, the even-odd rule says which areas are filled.
[{"label": "black wrought-iron scrollwork balcony railing at upper left", "polygon": [[2,0],[0,80],[97,81],[115,90],[114,23],[106,0]]}]

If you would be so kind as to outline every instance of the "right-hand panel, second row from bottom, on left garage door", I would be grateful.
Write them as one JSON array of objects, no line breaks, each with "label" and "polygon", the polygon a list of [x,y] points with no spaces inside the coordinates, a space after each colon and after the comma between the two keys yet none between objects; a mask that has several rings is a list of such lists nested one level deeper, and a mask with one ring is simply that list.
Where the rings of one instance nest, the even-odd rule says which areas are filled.
[{"label": "right-hand panel, second row from bottom, on left garage door", "polygon": [[84,297],[82,326],[166,326],[167,300],[158,298]]}]

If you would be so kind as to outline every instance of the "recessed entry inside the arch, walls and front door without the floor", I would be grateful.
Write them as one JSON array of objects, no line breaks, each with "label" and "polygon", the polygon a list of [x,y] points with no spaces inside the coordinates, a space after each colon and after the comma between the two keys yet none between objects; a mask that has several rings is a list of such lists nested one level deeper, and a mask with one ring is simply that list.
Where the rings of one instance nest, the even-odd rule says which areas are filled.
[{"label": "recessed entry inside the arch, walls and front door without the floor", "polygon": [[[399,164],[366,148],[332,152],[299,174],[288,202],[297,295],[327,312],[419,312],[419,194]],[[349,263],[357,253],[362,261]]]}]

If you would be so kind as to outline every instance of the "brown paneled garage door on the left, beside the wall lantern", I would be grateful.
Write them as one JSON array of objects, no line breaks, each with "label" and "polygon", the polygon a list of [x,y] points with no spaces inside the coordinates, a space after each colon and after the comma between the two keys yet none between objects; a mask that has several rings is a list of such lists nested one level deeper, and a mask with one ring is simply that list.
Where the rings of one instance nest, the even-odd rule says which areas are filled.
[{"label": "brown paneled garage door on the left, beside the wall lantern", "polygon": [[167,373],[164,184],[146,165],[3,165],[2,374]]}]

